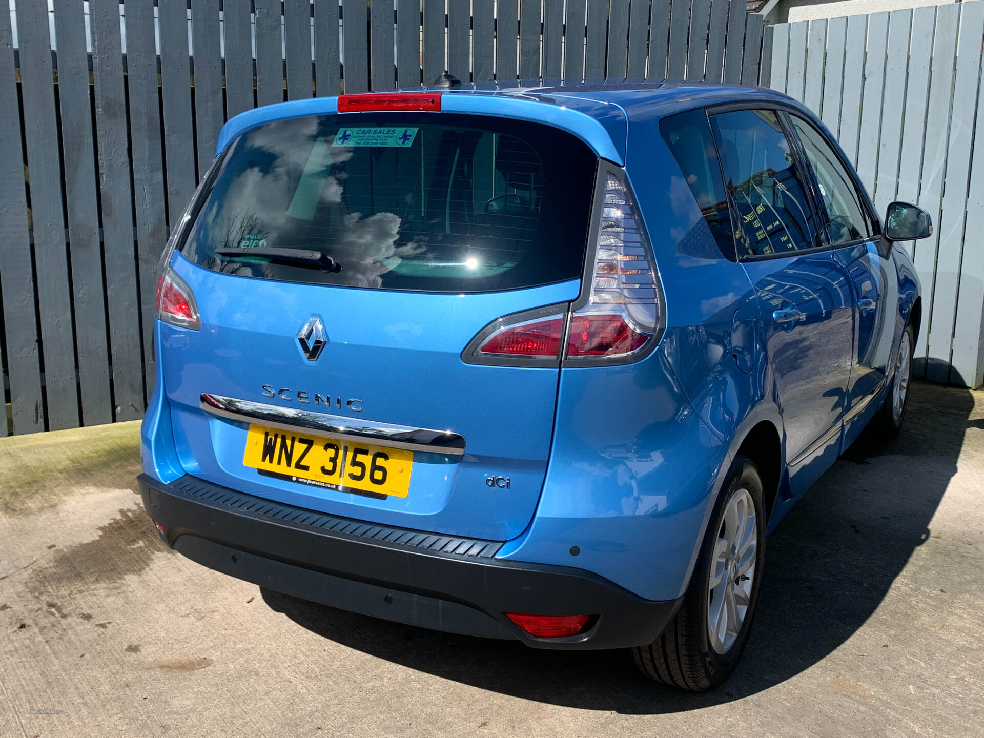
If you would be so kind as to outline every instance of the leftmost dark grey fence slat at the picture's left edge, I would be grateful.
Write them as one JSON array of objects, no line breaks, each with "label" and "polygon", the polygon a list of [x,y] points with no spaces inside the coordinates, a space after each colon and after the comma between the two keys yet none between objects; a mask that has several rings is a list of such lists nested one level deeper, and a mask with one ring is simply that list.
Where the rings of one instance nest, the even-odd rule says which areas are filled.
[{"label": "leftmost dark grey fence slat at the picture's left edge", "polygon": [[[0,99],[17,99],[17,79],[10,13],[0,13]],[[21,153],[21,119],[17,105],[0,105],[0,275],[3,276],[3,316],[7,334],[7,372],[10,380],[14,433],[44,430],[44,402],[34,316],[34,280],[28,236],[28,201]],[[0,419],[7,435],[6,415]]]}]

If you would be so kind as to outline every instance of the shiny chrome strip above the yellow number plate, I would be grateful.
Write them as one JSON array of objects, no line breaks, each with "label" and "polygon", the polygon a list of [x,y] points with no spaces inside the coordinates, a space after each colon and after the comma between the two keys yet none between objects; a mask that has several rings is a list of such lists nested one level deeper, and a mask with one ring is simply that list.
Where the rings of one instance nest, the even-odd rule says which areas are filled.
[{"label": "shiny chrome strip above the yellow number plate", "polygon": [[455,458],[464,456],[464,437],[451,431],[377,423],[362,418],[310,412],[297,407],[279,407],[251,400],[223,398],[209,393],[202,393],[200,401],[202,409],[210,415],[240,423],[262,423],[285,431],[310,430],[335,438],[366,441],[406,451]]}]

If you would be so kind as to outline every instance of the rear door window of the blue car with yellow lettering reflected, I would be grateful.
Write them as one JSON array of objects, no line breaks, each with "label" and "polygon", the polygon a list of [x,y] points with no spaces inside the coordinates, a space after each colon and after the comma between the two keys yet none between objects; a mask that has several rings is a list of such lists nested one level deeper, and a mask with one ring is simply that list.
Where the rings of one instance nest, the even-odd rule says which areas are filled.
[{"label": "rear door window of the blue car with yellow lettering reflected", "polygon": [[710,120],[731,198],[739,258],[821,245],[778,112],[735,110]]}]

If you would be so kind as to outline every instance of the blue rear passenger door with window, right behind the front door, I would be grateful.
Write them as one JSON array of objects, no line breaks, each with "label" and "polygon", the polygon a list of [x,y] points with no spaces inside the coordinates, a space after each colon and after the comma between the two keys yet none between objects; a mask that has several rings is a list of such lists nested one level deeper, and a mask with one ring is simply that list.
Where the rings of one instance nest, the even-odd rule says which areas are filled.
[{"label": "blue rear passenger door with window, right behind the front door", "polygon": [[836,459],[851,365],[851,292],[782,114],[711,111],[738,256],[755,284],[793,494]]}]

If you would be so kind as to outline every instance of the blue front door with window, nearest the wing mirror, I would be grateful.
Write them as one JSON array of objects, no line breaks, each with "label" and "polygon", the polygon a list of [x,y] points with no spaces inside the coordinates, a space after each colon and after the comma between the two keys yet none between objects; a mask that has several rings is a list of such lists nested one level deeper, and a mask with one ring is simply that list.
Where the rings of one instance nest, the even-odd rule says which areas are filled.
[{"label": "blue front door with window, nearest the wing mirror", "polygon": [[878,220],[863,188],[837,149],[810,121],[790,114],[793,131],[815,178],[834,258],[846,272],[854,336],[844,406],[843,447],[857,437],[888,380],[898,280],[891,254],[880,249]]}]

